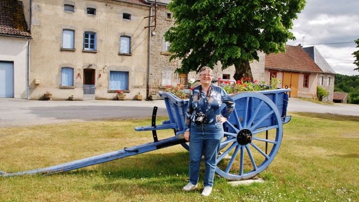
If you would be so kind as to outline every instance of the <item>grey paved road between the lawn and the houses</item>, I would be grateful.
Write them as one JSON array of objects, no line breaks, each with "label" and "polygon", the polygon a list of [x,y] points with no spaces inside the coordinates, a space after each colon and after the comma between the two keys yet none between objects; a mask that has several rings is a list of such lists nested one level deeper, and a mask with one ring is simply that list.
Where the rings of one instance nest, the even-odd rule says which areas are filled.
[{"label": "grey paved road between the lawn and the houses", "polygon": [[[161,101],[29,101],[0,98],[0,127],[66,123],[103,119],[150,118],[153,107],[157,115],[167,115]],[[318,112],[359,116],[359,105],[316,104],[290,98],[290,112]]]}]

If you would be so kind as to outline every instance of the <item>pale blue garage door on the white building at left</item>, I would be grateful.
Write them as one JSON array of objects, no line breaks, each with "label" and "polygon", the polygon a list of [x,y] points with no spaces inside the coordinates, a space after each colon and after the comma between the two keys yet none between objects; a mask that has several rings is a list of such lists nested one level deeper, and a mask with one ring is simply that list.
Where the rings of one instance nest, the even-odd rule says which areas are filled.
[{"label": "pale blue garage door on the white building at left", "polygon": [[14,97],[14,64],[0,63],[0,98]]}]

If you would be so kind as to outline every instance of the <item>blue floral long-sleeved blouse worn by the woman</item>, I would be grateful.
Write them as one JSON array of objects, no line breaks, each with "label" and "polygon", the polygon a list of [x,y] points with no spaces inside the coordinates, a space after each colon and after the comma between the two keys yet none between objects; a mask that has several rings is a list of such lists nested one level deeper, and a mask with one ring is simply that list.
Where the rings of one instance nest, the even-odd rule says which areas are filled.
[{"label": "blue floral long-sleeved blouse worn by the woman", "polygon": [[[201,88],[202,85],[194,88],[189,97],[187,112],[185,114],[185,131],[189,131],[191,121],[195,122],[196,114],[199,112],[206,115],[203,124],[211,124],[217,122],[219,117],[221,117],[220,107],[222,103],[227,105],[227,111],[223,115],[223,117],[227,119],[229,119],[235,107],[234,100],[221,87],[211,84],[212,89],[210,91],[209,99],[206,99],[207,96],[201,91]],[[199,97],[198,95],[200,91],[201,96]]]}]

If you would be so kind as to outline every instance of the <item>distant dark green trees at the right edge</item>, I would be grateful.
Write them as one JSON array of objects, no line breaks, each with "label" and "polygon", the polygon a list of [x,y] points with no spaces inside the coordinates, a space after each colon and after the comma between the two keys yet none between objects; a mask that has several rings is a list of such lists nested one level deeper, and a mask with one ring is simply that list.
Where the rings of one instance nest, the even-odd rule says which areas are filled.
[{"label": "distant dark green trees at the right edge", "polygon": [[336,74],[334,92],[348,93],[348,103],[359,104],[359,75]]}]

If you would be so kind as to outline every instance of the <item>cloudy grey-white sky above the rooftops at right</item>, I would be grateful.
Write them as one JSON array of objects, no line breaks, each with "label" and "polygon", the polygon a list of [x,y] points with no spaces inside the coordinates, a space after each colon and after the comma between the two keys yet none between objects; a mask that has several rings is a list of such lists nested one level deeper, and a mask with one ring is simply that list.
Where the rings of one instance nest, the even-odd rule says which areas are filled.
[{"label": "cloudy grey-white sky above the rooftops at right", "polygon": [[[359,0],[306,0],[287,45],[315,46],[336,73],[359,75],[352,53],[359,38]],[[304,38],[303,38],[304,37]],[[350,43],[347,43],[350,42]]]}]

